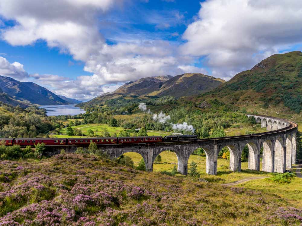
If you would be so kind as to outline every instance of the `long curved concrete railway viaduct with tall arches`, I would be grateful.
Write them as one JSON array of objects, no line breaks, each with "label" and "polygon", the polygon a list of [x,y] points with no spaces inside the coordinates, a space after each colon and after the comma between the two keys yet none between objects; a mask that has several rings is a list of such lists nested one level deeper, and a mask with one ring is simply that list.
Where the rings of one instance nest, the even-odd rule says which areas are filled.
[{"label": "long curved concrete railway viaduct with tall arches", "polygon": [[[98,148],[106,152],[112,159],[127,152],[137,152],[142,155],[146,169],[153,170],[153,162],[157,155],[166,150],[174,151],[178,159],[178,172],[188,173],[188,160],[197,148],[206,153],[206,173],[217,174],[217,158],[223,147],[230,150],[230,170],[241,171],[241,153],[247,145],[249,147],[248,168],[266,172],[283,173],[296,162],[296,134],[295,122],[265,115],[248,115],[254,117],[261,127],[268,132],[254,133],[234,137],[218,137],[200,139],[197,141],[155,143],[155,144],[115,144],[99,145]],[[260,150],[263,146],[262,169],[260,169]],[[66,146],[66,152],[75,152],[78,146]],[[87,146],[85,146],[87,148]],[[62,147],[47,147],[47,155],[59,153]],[[50,150],[51,149],[51,150]]]}]

